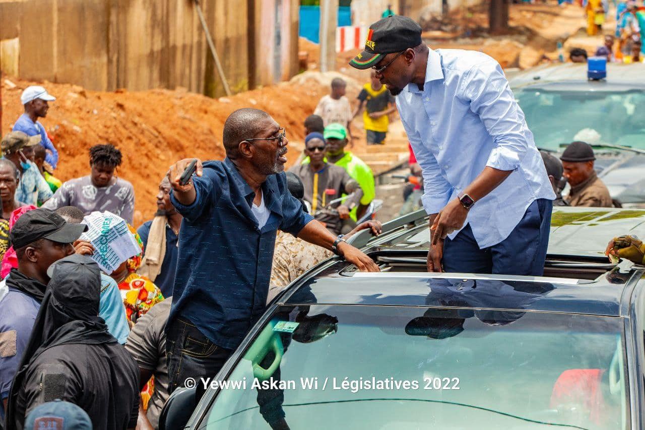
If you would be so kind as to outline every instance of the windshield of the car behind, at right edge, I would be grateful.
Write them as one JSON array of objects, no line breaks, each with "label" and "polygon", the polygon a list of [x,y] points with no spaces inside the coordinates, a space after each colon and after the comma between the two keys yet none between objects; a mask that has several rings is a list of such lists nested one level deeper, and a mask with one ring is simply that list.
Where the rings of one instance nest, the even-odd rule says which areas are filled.
[{"label": "windshield of the car behind, at right edge", "polygon": [[645,149],[645,92],[515,90],[539,148],[581,140]]}]

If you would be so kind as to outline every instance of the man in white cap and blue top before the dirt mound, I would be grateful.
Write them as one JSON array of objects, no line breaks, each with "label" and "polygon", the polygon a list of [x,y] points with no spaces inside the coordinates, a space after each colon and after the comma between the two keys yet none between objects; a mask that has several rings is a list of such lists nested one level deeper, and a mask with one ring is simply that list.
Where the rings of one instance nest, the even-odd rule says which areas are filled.
[{"label": "man in white cap and blue top before the dirt mound", "polygon": [[14,131],[21,131],[27,136],[41,136],[41,145],[45,147],[47,155],[45,161],[54,169],[58,163],[58,151],[54,143],[47,136],[45,127],[38,122],[38,118],[45,118],[49,110],[48,101],[54,101],[56,97],[48,94],[47,90],[37,85],[25,88],[20,101],[25,107],[25,113],[15,121]]}]

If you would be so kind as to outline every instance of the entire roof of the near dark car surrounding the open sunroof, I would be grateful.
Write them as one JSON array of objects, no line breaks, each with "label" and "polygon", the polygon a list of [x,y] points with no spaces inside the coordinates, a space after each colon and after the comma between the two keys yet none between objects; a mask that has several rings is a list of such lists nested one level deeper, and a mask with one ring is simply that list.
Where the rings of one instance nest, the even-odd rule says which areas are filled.
[{"label": "entire roof of the near dark car surrounding the open sunroof", "polygon": [[[551,216],[550,256],[609,263],[604,249],[613,236],[634,234],[645,226],[645,210],[555,207]],[[383,234],[364,243],[350,242],[375,260],[415,256],[428,251],[428,217],[420,210],[390,221]],[[386,258],[383,258],[386,257]],[[633,287],[642,268],[623,260],[595,280],[446,274],[428,272],[361,273],[339,260],[326,261],[279,298],[288,305],[343,304],[458,307],[564,312],[620,316],[624,290]]]}]

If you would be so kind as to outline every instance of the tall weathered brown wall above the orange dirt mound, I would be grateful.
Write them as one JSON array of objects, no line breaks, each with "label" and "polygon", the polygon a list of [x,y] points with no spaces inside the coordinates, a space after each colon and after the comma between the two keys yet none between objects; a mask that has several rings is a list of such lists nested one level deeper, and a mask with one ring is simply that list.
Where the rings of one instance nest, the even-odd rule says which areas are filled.
[{"label": "tall weathered brown wall above the orange dirt mound", "polygon": [[[272,41],[273,26],[248,21],[249,8],[275,13],[276,1],[283,13],[280,76],[264,73],[275,70],[266,63],[276,58],[275,50],[263,50]],[[297,0],[200,3],[234,92],[248,89],[254,80],[252,63],[264,65],[257,84],[297,72]],[[18,73],[25,79],[92,90],[185,87],[224,94],[192,0],[0,0],[0,41],[15,37]]]}]

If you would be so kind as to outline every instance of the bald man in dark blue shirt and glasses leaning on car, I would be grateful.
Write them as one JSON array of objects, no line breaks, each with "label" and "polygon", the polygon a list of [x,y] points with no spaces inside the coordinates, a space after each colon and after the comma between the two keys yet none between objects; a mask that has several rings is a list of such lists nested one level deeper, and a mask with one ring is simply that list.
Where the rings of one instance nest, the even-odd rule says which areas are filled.
[{"label": "bald man in dark blue shirt and glasses leaning on car", "polygon": [[168,172],[171,200],[184,216],[172,310],[166,326],[170,389],[187,377],[213,377],[261,316],[278,229],[378,271],[371,258],[302,210],[286,185],[288,140],[262,110],[233,112],[224,124],[224,161],[197,163],[187,185]]}]

